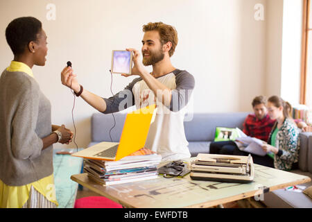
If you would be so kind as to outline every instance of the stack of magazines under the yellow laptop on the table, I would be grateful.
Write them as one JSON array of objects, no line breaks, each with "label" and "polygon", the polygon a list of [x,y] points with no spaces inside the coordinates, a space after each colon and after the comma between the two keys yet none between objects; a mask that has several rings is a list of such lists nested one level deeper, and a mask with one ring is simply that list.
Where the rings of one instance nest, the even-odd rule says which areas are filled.
[{"label": "stack of magazines under the yellow laptop on the table", "polygon": [[141,148],[118,161],[85,159],[84,172],[101,185],[116,185],[157,178],[161,155]]}]

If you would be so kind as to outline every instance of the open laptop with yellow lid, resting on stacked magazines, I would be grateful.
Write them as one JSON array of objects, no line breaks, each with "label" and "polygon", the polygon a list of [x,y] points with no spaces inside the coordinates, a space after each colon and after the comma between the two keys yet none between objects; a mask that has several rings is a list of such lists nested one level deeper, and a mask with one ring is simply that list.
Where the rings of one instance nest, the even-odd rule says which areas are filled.
[{"label": "open laptop with yellow lid, resting on stacked magazines", "polygon": [[116,161],[144,148],[150,123],[155,119],[155,107],[154,104],[129,112],[125,117],[119,143],[101,142],[71,155],[93,160]]}]

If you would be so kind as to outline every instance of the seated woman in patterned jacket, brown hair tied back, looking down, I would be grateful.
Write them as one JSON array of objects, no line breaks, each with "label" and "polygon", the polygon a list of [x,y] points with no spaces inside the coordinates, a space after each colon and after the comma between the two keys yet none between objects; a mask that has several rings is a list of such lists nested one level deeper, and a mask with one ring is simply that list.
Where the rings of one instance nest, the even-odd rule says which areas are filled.
[{"label": "seated woman in patterned jacket, brown hair tied back, looking down", "polygon": [[[268,143],[263,142],[261,148],[267,154],[264,156],[252,154],[254,163],[267,167],[289,171],[297,168],[298,162],[298,130],[288,110],[291,104],[279,96],[271,96],[267,103],[270,119],[276,119]],[[234,149],[234,155],[248,155],[239,148]]]}]

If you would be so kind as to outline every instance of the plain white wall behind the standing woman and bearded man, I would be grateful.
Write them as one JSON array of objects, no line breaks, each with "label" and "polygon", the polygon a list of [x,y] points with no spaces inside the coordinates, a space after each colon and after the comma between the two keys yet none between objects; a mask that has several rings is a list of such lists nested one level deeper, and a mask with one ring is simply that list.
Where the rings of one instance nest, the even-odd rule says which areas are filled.
[{"label": "plain white wall behind the standing woman and bearded man", "polygon": [[[271,22],[282,15],[280,2],[0,0],[0,67],[6,68],[12,60],[4,37],[8,23],[21,16],[40,19],[48,35],[49,56],[46,66],[33,67],[33,72],[51,101],[53,123],[64,123],[73,130],[73,95],[60,83],[60,71],[66,62],[71,60],[83,87],[95,94],[110,96],[111,51],[126,47],[141,49],[142,26],[162,21],[177,28],[179,42],[172,57],[173,65],[187,69],[195,77],[194,112],[250,111],[254,96],[271,93],[271,88],[275,90],[267,84],[270,82],[268,77],[275,76],[276,69],[275,63],[270,63],[267,56],[280,61],[275,55],[268,55],[267,50],[271,44],[279,44],[279,39],[269,46],[266,42],[275,37],[268,31],[275,28]],[[56,6],[55,21],[46,19],[48,3]],[[256,3],[265,6],[264,21],[254,19]],[[270,17],[266,17],[266,10]],[[123,89],[133,78],[114,75],[113,92]],[[277,75],[275,81],[279,80]],[[85,147],[90,142],[90,117],[94,112],[97,111],[82,99],[76,99],[74,117],[78,146]],[[68,147],[73,147],[73,144]]]}]

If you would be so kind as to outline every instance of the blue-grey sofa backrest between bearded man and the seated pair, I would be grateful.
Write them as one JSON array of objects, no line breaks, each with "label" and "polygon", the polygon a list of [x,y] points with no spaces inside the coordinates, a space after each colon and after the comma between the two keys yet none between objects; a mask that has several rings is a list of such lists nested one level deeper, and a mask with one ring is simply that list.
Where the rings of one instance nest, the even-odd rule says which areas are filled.
[{"label": "blue-grey sofa backrest between bearded man and the seated pair", "polygon": [[216,126],[243,128],[243,122],[250,112],[194,113],[191,121],[184,121],[187,141],[213,141]]}]

